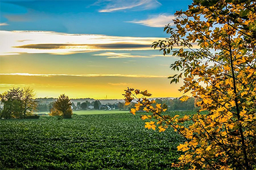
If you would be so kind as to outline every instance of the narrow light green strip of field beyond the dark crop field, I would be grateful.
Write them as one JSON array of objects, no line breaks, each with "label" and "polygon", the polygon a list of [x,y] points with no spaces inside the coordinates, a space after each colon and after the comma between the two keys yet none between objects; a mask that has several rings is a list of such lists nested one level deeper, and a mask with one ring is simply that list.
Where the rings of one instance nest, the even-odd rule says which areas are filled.
[{"label": "narrow light green strip of field beyond the dark crop field", "polygon": [[[98,115],[98,114],[127,114],[129,110],[73,110],[77,115]],[[35,112],[35,114],[49,114],[49,112]]]}]

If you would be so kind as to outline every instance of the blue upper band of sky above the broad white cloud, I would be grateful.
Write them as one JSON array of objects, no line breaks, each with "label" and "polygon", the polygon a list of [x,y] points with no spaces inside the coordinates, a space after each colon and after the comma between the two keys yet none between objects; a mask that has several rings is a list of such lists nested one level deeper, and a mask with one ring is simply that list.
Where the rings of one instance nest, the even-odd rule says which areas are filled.
[{"label": "blue upper band of sky above the broad white cloud", "polygon": [[1,30],[158,37],[165,36],[163,27],[129,21],[171,16],[188,4],[191,1],[1,1],[1,22],[9,24]]}]

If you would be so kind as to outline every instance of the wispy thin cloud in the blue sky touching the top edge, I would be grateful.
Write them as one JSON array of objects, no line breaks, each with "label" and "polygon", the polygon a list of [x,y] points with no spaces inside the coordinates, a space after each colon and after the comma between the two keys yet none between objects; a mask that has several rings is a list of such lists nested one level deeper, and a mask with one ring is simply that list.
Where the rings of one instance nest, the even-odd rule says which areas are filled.
[{"label": "wispy thin cloud in the blue sky touching the top edge", "polygon": [[[106,1],[98,1],[96,4],[100,4]],[[107,1],[107,6],[99,10],[99,12],[116,12],[120,10],[128,10],[128,9],[135,9],[135,10],[149,10],[155,9],[159,5],[161,5],[157,0],[111,0]]]}]

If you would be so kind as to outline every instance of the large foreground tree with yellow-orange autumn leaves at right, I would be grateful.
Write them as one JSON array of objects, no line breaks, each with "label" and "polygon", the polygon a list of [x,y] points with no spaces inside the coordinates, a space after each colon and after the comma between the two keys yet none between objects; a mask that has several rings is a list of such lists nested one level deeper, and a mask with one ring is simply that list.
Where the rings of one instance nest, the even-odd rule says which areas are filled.
[{"label": "large foreground tree with yellow-orange autumn leaves at right", "polygon": [[[191,169],[254,169],[256,168],[256,3],[255,1],[194,0],[186,12],[176,12],[176,29],[165,27],[171,36],[154,42],[163,55],[171,53],[179,60],[171,69],[181,73],[171,83],[183,79],[180,91],[191,92],[200,107],[198,114],[183,118],[161,115],[161,104],[146,99],[148,92],[126,90],[126,104],[135,95],[140,107],[152,115],[148,129],[165,131],[173,127],[186,139],[178,146],[183,151],[174,166],[191,165]],[[213,50],[215,50],[214,53]],[[134,96],[133,96],[134,95]],[[145,97],[146,96],[146,97]],[[180,100],[187,101],[184,96]],[[202,114],[208,110],[208,114]],[[153,119],[153,120],[151,120]],[[184,121],[193,121],[183,126]]]}]

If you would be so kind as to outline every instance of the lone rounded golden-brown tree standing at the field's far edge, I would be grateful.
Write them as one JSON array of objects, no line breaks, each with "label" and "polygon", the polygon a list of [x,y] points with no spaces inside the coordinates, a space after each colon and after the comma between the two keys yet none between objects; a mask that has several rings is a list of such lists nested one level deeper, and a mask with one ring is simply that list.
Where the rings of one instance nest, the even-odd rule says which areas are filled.
[{"label": "lone rounded golden-brown tree standing at the field's far edge", "polygon": [[51,110],[51,115],[61,115],[63,118],[71,118],[71,116],[73,115],[71,106],[72,103],[69,97],[65,94],[62,94],[57,99],[57,101],[55,101]]}]

